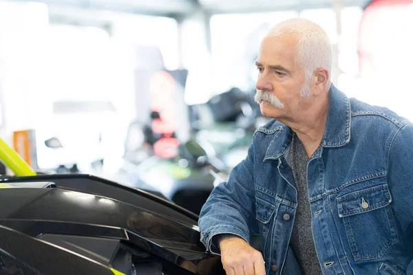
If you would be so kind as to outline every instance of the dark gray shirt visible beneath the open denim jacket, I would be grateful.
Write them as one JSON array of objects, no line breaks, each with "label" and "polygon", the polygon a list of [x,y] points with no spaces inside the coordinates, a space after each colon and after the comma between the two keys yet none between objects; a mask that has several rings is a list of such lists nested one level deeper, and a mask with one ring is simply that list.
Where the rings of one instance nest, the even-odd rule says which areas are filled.
[{"label": "dark gray shirt visible beneath the open denim jacket", "polygon": [[311,230],[311,210],[307,186],[307,164],[309,159],[303,144],[295,133],[291,141],[290,152],[298,201],[290,245],[303,274],[323,274],[315,251],[313,231]]}]

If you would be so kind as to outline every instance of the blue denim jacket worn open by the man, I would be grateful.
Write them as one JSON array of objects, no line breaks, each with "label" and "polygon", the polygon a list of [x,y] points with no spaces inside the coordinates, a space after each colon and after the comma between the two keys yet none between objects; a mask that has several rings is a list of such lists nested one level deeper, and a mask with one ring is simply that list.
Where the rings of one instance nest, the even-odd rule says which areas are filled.
[{"label": "blue denim jacket worn open by the man", "polygon": [[[200,213],[201,241],[260,234],[266,274],[300,274],[289,247],[297,208],[292,130],[257,131],[228,182]],[[324,274],[413,274],[413,124],[331,86],[324,137],[307,166],[308,196]]]}]

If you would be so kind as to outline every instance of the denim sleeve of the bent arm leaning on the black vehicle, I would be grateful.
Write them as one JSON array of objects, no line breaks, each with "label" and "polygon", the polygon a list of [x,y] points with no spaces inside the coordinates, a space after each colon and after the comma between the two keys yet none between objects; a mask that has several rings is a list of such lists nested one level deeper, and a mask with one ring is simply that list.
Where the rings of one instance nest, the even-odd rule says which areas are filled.
[{"label": "denim sleeve of the bent arm leaning on the black vehicle", "polygon": [[250,230],[256,226],[253,159],[254,142],[246,159],[233,168],[226,183],[213,189],[202,207],[198,222],[201,241],[214,254],[220,250],[212,242],[213,236],[233,234],[249,242]]}]

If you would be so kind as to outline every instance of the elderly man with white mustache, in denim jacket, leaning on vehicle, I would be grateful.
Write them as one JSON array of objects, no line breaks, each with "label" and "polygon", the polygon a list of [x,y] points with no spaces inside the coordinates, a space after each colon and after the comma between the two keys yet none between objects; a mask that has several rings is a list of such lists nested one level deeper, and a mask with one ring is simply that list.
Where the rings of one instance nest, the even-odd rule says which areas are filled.
[{"label": "elderly man with white mustache, in denim jacket, leaning on vehicle", "polygon": [[331,63],[311,21],[284,21],[262,41],[255,100],[274,120],[200,214],[226,274],[413,274],[413,125],[348,99]]}]

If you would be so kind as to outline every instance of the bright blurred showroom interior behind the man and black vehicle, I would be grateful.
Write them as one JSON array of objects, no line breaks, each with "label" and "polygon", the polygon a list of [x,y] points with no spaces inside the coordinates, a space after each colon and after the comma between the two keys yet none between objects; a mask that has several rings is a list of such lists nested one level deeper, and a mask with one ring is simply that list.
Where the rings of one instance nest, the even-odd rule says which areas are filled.
[{"label": "bright blurred showroom interior behind the man and black vehicle", "polygon": [[0,137],[198,212],[267,121],[257,50],[295,17],[330,36],[339,89],[413,120],[413,0],[0,0]]}]

